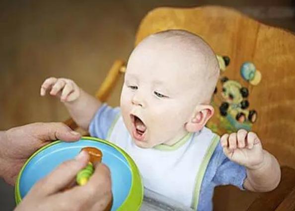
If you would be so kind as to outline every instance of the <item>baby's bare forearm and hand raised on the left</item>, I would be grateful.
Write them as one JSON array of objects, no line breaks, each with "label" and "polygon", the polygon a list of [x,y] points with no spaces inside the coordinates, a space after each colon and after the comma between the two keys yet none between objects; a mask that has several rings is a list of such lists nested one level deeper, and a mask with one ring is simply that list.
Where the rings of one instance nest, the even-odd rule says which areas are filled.
[{"label": "baby's bare forearm and hand raised on the left", "polygon": [[57,96],[65,104],[74,121],[83,129],[88,130],[90,121],[101,103],[93,96],[80,89],[74,81],[64,78],[46,79],[40,90],[40,95]]}]

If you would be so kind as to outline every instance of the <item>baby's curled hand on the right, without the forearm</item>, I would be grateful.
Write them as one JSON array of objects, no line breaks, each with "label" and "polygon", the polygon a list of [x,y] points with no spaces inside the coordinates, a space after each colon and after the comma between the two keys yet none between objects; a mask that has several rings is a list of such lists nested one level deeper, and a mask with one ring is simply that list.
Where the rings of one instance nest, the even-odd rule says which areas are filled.
[{"label": "baby's curled hand on the right, without the forearm", "polygon": [[240,129],[221,137],[224,154],[233,162],[247,168],[258,168],[264,159],[261,141],[254,132]]}]

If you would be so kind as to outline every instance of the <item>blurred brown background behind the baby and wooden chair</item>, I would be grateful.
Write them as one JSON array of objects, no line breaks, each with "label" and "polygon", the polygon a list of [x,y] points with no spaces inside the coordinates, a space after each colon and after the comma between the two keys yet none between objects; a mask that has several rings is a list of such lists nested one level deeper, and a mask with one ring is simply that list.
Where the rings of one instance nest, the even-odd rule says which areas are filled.
[{"label": "blurred brown background behind the baby and wooden chair", "polygon": [[[218,4],[295,31],[294,0],[0,0],[0,130],[63,121],[55,98],[39,97],[49,76],[73,79],[94,94],[115,59],[128,59],[141,19],[158,6]],[[110,104],[119,103],[120,88]],[[13,189],[0,183],[0,208],[12,210]]]}]

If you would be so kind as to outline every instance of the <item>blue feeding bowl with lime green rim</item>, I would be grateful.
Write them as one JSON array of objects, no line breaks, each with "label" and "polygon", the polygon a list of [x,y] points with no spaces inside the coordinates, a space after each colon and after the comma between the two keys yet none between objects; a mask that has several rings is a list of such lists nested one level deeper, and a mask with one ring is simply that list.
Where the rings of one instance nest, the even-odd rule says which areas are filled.
[{"label": "blue feeding bowl with lime green rim", "polygon": [[127,208],[139,210],[143,200],[143,185],[133,160],[119,147],[90,137],[83,137],[77,142],[57,141],[33,154],[23,166],[16,181],[16,203],[18,204],[26,196],[36,182],[62,162],[73,159],[83,147],[87,146],[99,148],[103,154],[102,163],[110,169],[113,193],[111,211]]}]

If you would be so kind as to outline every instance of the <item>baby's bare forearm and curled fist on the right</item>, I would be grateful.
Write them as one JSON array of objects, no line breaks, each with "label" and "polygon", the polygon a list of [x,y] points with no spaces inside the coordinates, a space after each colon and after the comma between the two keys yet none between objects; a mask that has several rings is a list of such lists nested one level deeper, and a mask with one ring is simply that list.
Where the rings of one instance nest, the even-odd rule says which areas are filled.
[{"label": "baby's bare forearm and curled fist on the right", "polygon": [[281,180],[280,165],[272,154],[262,148],[255,133],[241,129],[237,133],[224,134],[221,146],[231,161],[246,167],[245,189],[267,192],[278,186]]}]

